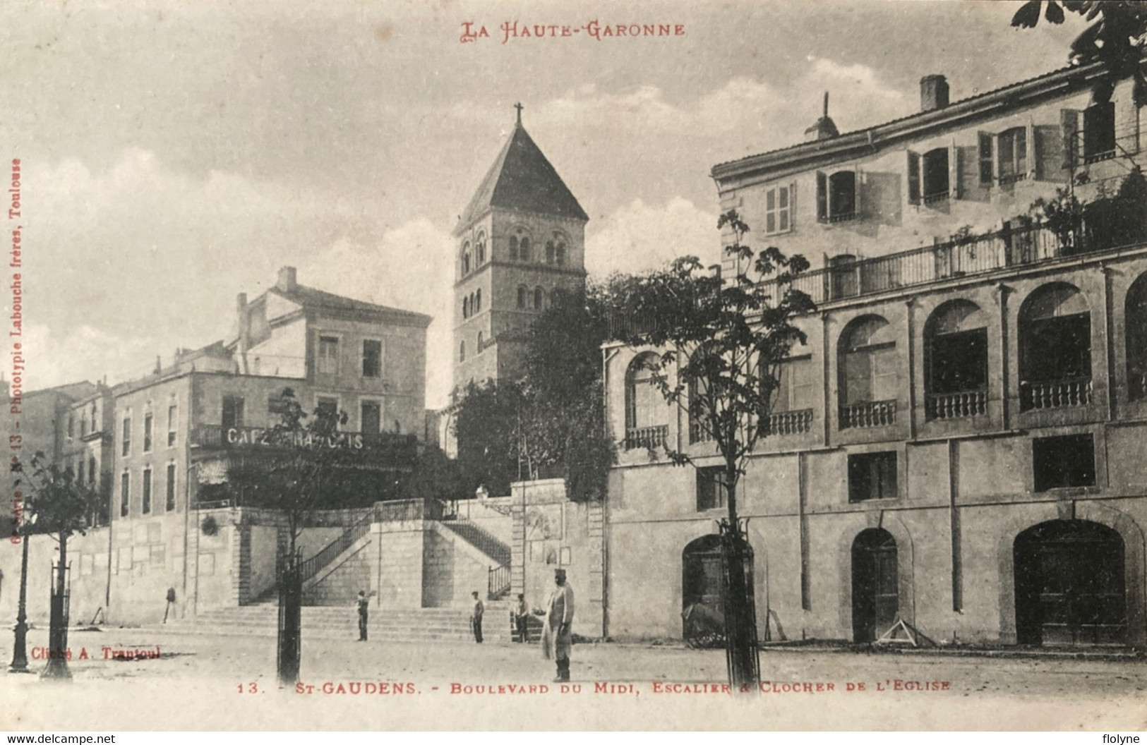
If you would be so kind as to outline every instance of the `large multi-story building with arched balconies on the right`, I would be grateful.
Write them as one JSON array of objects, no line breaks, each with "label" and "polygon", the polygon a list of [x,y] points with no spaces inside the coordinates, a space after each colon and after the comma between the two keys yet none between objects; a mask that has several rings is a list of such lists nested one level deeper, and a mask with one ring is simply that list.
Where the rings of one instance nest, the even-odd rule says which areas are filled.
[{"label": "large multi-story building with arched balconies on the right", "polygon": [[[840,134],[826,110],[713,166],[818,306],[740,483],[762,635],[1147,642],[1147,155],[1131,79],[1107,100],[1105,76],[955,102],[928,76],[916,113]],[[718,593],[721,461],[651,352],[606,354],[615,636],[679,635]]]}]

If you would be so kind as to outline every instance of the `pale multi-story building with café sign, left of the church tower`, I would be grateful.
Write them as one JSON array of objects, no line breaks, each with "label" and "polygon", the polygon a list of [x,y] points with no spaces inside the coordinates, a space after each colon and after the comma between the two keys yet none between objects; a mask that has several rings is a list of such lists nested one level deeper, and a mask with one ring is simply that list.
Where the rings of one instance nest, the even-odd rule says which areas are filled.
[{"label": "pale multi-story building with caf\u00e9 sign, left of the church tower", "polygon": [[[272,586],[280,520],[237,509],[241,495],[226,480],[234,460],[267,449],[264,433],[281,421],[276,402],[284,389],[306,411],[346,413],[344,431],[326,445],[360,450],[380,475],[377,493],[364,494],[362,507],[393,496],[423,430],[429,323],[426,315],[298,284],[295,269],[284,267],[255,300],[239,297],[233,339],[178,350],[151,375],[112,389],[87,384],[56,406],[55,460],[85,479],[110,481],[110,525],[97,516],[107,527],[70,543],[73,612],[158,620],[169,588],[182,615],[249,602]],[[205,528],[209,512],[201,510],[220,503],[226,511],[210,513]],[[331,525],[302,546],[321,547],[342,530],[337,519]],[[48,548],[36,536],[32,542]],[[9,575],[18,575],[17,555],[0,557],[5,568],[16,557]],[[32,579],[46,582],[47,575]]]}]

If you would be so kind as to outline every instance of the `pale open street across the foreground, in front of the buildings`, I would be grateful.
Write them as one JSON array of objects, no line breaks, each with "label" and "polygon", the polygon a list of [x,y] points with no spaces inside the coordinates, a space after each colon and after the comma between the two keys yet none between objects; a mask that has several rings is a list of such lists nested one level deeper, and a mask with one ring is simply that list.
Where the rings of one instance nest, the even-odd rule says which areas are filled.
[{"label": "pale open street across the foreground, in front of the buildings", "polygon": [[[10,649],[6,634],[5,650]],[[29,635],[29,652],[46,644]],[[5,721],[32,729],[572,728],[1142,729],[1141,660],[770,650],[764,693],[721,695],[724,653],[575,646],[572,683],[551,683],[537,646],[307,642],[302,687],[280,690],[274,640],[157,629],[72,632],[71,685],[0,681]],[[106,659],[154,652],[159,658]],[[107,650],[104,649],[107,648]],[[86,658],[81,659],[85,657]],[[42,661],[33,660],[39,669]],[[530,688],[530,687],[535,688]],[[863,685],[863,688],[861,688]],[[313,687],[313,688],[309,688]],[[15,719],[14,719],[15,717]]]}]

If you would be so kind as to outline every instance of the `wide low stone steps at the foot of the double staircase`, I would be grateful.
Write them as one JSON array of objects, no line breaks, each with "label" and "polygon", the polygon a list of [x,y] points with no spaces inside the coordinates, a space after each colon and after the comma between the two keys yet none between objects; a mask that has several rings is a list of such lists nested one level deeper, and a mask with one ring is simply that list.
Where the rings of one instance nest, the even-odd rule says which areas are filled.
[{"label": "wide low stone steps at the foot of the double staircase", "polygon": [[[486,642],[509,642],[509,603],[486,603],[482,626]],[[156,630],[170,634],[204,634],[210,636],[275,636],[279,607],[272,603],[204,611],[195,619],[167,622]],[[315,606],[302,609],[303,640],[357,640],[358,612],[354,606]],[[468,610],[452,607],[370,609],[370,641],[377,642],[447,642],[473,643]],[[536,625],[531,638],[537,638]]]}]

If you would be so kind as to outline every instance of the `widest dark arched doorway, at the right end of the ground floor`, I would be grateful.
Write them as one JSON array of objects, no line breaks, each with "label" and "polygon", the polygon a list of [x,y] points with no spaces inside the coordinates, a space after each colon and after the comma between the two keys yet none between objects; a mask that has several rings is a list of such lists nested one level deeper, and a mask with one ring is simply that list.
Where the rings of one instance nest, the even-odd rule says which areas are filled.
[{"label": "widest dark arched doorway, at the right end of the ground floor", "polygon": [[1050,520],[1015,538],[1019,644],[1123,644],[1123,538],[1087,520]]}]

